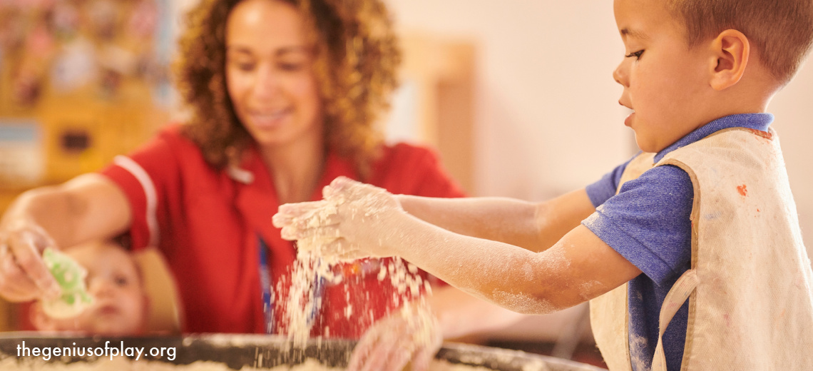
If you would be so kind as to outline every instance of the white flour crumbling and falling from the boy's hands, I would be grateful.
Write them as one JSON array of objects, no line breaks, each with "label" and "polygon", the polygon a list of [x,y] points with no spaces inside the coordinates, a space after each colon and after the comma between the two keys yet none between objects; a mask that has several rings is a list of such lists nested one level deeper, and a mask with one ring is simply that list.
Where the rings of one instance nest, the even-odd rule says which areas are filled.
[{"label": "white flour crumbling and falling from the boy's hands", "polygon": [[[356,194],[349,194],[354,197]],[[316,234],[300,236],[297,241],[297,259],[293,263],[290,282],[280,282],[276,292],[284,292],[283,286],[289,286],[288,295],[282,298],[285,303],[283,308],[283,321],[287,330],[288,338],[293,347],[305,347],[308,338],[311,337],[314,317],[320,313],[323,303],[321,303],[318,290],[320,286],[335,285],[347,279],[341,275],[333,273],[336,264],[343,264],[352,261],[354,257],[362,257],[360,251],[354,250],[350,246],[342,245],[337,237],[337,230],[325,228],[333,225],[339,207],[349,207],[347,210],[351,218],[376,218],[379,212],[384,212],[388,206],[380,198],[376,197],[376,192],[354,197],[356,201],[352,204],[346,203],[342,194],[327,194],[327,197],[315,203],[311,203],[311,208],[301,216],[293,218],[291,225],[298,225],[298,228],[308,230],[321,230]],[[292,234],[300,233],[300,230],[293,230]],[[406,323],[415,329],[413,342],[416,347],[430,345],[433,342],[432,327],[434,317],[429,309],[425,296],[431,295],[431,286],[420,276],[418,268],[412,264],[406,264],[400,258],[389,260],[379,260],[379,272],[377,278],[384,282],[389,278],[389,285],[395,288],[389,308],[400,308],[396,314],[402,316]],[[426,295],[423,295],[423,294]],[[353,308],[349,303],[350,293],[347,293],[345,308],[332,308],[344,313],[346,318],[350,318],[354,312],[367,312],[366,308]],[[359,303],[358,300],[352,302]],[[368,300],[362,300],[367,303]],[[404,305],[409,302],[410,305]],[[370,322],[372,312],[369,312]],[[363,318],[363,316],[359,316]],[[357,325],[366,327],[369,323],[359,321]],[[364,329],[363,329],[364,330]],[[323,329],[323,334],[329,336],[329,329]]]}]

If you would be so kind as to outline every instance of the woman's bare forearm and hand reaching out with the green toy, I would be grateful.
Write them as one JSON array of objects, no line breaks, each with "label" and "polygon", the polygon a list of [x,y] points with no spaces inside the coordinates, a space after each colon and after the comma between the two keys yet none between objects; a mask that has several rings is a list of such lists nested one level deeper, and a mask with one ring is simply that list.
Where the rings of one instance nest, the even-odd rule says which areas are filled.
[{"label": "woman's bare forearm and hand reaching out with the green toy", "polygon": [[59,292],[42,261],[46,247],[111,238],[130,224],[130,206],[112,181],[85,174],[28,190],[0,219],[0,296],[26,301]]}]

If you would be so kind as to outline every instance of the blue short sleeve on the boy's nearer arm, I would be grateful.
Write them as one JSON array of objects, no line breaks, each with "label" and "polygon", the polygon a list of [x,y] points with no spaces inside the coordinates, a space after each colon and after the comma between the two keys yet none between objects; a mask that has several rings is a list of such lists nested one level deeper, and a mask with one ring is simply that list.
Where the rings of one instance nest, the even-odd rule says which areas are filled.
[{"label": "blue short sleeve on the boy's nearer arm", "polygon": [[691,260],[693,198],[689,174],[659,166],[624,183],[582,224],[660,286]]}]

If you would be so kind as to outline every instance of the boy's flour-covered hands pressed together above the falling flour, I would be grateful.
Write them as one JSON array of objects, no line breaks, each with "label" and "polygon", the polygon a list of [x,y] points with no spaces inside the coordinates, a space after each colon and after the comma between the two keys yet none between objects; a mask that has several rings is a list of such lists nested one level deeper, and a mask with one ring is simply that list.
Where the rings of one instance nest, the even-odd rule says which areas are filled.
[{"label": "boy's flour-covered hands pressed together above the falling flour", "polygon": [[397,218],[405,215],[393,194],[337,177],[324,187],[323,195],[322,201],[280,206],[273,221],[282,228],[282,238],[340,260],[393,255],[385,241]]}]

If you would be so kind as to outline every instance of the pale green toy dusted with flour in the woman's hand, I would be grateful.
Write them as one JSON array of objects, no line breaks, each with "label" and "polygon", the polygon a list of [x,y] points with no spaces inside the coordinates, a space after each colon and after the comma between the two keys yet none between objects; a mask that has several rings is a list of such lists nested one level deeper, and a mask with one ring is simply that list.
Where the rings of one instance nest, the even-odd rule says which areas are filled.
[{"label": "pale green toy dusted with flour in the woman's hand", "polygon": [[42,301],[42,311],[52,318],[70,318],[85,311],[93,303],[85,287],[88,271],[70,256],[50,247],[42,252],[42,260],[62,289],[58,298]]}]

